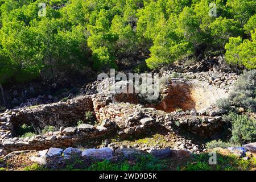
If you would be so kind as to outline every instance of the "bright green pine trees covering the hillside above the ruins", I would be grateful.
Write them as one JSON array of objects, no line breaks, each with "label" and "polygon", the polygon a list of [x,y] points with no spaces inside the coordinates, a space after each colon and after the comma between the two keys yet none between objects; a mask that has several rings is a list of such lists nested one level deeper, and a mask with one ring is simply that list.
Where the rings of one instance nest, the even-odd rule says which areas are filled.
[{"label": "bright green pine trees covering the hillside above the ruins", "polygon": [[[42,2],[45,16],[39,16]],[[117,68],[118,61],[139,55],[151,69],[220,53],[231,65],[256,68],[254,0],[1,0],[0,5],[0,83]]]}]

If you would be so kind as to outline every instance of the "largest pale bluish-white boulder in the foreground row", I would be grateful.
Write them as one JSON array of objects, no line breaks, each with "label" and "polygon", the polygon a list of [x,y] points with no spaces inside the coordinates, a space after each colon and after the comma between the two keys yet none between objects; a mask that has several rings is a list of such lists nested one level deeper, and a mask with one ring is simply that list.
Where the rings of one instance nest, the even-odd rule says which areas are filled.
[{"label": "largest pale bluish-white boulder in the foreground row", "polygon": [[100,149],[90,148],[82,152],[82,157],[95,160],[110,160],[113,158],[113,150],[108,147]]}]

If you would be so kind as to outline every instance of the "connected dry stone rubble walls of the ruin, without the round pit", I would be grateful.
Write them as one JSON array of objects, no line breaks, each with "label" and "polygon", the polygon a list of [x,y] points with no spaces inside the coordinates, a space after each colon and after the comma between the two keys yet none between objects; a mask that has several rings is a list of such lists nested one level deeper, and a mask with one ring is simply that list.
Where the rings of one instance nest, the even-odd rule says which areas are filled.
[{"label": "connected dry stone rubble walls of the ruin, without the round pit", "polygon": [[[94,112],[97,125],[75,126],[79,119],[84,119],[85,111]],[[92,96],[80,96],[67,102],[6,111],[0,115],[0,150],[11,152],[70,147],[109,134],[116,134],[121,138],[142,134],[152,126],[161,126],[169,130],[185,129],[204,138],[216,134],[226,125],[222,119],[224,113],[225,110],[214,107],[200,111],[166,113],[139,104],[117,103],[113,94],[102,92]],[[23,123],[41,128],[45,125],[59,126],[60,131],[30,138],[15,137],[15,127]]]}]

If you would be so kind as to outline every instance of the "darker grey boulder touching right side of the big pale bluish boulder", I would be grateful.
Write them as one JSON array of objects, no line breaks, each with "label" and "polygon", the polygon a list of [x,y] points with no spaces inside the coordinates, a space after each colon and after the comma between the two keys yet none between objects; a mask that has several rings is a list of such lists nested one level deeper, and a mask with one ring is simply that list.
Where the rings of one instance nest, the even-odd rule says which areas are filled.
[{"label": "darker grey boulder touching right side of the big pale bluish boulder", "polygon": [[138,150],[135,148],[119,148],[115,150],[114,155],[126,159],[135,159],[137,155],[142,155],[144,153],[145,152],[143,152],[142,150]]}]

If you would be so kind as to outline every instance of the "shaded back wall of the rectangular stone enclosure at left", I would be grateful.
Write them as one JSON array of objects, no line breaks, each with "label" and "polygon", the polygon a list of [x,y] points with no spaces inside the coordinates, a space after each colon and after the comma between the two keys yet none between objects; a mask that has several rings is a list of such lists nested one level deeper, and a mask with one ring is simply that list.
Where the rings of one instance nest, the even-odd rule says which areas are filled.
[{"label": "shaded back wall of the rectangular stone enclosure at left", "polygon": [[93,111],[91,96],[80,96],[67,102],[11,110],[0,115],[0,122],[11,123],[14,126],[27,123],[41,128],[46,125],[71,126],[79,119],[84,119],[85,111]]}]

